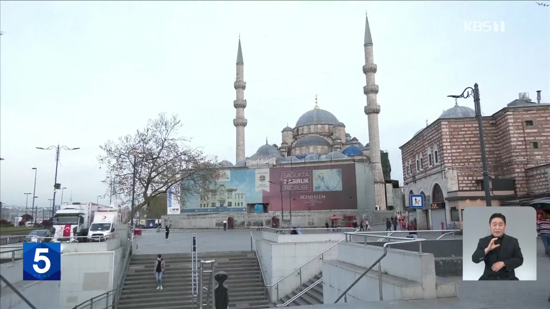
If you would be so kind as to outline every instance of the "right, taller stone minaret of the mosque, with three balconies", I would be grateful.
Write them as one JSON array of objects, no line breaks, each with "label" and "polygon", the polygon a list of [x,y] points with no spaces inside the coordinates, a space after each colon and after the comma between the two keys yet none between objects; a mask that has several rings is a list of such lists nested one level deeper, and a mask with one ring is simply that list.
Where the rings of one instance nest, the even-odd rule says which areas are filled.
[{"label": "right, taller stone minaret of the mosque, with three balconies", "polygon": [[363,73],[366,76],[367,85],[363,87],[363,93],[367,96],[367,106],[365,114],[368,119],[368,145],[370,152],[370,165],[375,176],[375,203],[380,209],[386,209],[386,194],[384,186],[384,175],[382,173],[382,163],[380,159],[380,134],[378,133],[378,113],[380,106],[376,102],[378,94],[378,85],[375,83],[376,64],[372,55],[372,37],[371,29],[368,27],[368,17],[365,20],[365,65]]}]

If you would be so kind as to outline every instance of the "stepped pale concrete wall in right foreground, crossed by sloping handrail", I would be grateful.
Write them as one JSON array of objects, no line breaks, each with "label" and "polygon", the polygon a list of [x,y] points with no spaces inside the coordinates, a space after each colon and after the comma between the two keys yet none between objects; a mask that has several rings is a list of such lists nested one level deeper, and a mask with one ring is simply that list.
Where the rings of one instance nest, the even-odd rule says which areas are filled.
[{"label": "stepped pale concrete wall in right foreground, crossed by sloping handrail", "polygon": [[[382,254],[381,247],[351,242],[340,243],[338,261],[323,261],[324,304],[334,302]],[[437,297],[434,258],[431,253],[391,249],[388,250],[381,266],[382,273],[388,274],[382,276],[384,300]],[[376,293],[378,291],[376,270],[377,268],[367,273],[348,292],[348,302],[379,300],[379,294]],[[365,291],[370,292],[365,293]]]}]

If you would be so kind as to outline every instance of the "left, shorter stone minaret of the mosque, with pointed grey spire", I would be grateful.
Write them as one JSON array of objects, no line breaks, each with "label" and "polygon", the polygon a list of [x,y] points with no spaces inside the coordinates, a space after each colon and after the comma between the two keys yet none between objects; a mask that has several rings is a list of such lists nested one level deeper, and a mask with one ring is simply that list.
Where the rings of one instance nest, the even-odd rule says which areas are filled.
[{"label": "left, shorter stone minaret of the mosque, with pointed grey spire", "polygon": [[243,73],[243,51],[240,47],[240,35],[239,35],[239,49],[237,51],[237,78],[233,84],[235,91],[237,91],[237,100],[233,101],[233,107],[237,109],[237,117],[233,119],[233,125],[237,128],[237,143],[235,148],[237,149],[237,162],[244,161],[244,127],[248,123],[244,118],[244,108],[246,107],[246,100],[244,100],[244,90],[246,89],[246,82],[244,81]]}]

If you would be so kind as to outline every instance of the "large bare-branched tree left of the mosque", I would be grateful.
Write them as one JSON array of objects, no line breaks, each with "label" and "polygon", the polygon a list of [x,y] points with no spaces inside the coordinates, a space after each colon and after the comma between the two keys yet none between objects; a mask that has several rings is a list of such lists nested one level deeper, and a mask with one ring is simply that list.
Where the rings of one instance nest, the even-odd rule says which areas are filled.
[{"label": "large bare-branched tree left of the mosque", "polygon": [[190,147],[189,138],[178,136],[181,127],[177,115],[167,117],[162,113],[134,135],[121,136],[118,142],[108,140],[100,146],[105,153],[98,161],[107,169],[105,183],[113,184],[109,188],[113,197],[131,205],[135,181],[132,215],[166,193],[168,187],[172,187],[175,197],[186,200],[186,196],[199,194],[215,183],[216,157]]}]

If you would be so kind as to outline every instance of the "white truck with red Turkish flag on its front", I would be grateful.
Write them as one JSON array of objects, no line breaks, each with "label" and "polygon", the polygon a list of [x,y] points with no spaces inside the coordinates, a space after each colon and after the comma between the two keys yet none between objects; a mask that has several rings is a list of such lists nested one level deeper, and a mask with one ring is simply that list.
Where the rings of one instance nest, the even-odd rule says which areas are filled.
[{"label": "white truck with red Turkish flag on its front", "polygon": [[96,203],[64,203],[53,217],[52,242],[82,242],[87,236],[95,213],[101,206]]}]

